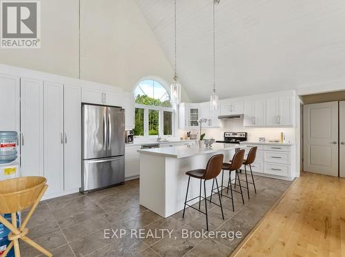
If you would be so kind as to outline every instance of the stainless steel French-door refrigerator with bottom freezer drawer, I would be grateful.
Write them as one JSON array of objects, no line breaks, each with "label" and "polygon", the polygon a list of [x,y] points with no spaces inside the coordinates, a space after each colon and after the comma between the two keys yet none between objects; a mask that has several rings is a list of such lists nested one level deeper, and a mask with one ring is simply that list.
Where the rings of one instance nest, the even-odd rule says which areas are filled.
[{"label": "stainless steel French-door refrigerator with bottom freezer drawer", "polygon": [[125,178],[125,110],[82,105],[81,192],[109,187]]}]

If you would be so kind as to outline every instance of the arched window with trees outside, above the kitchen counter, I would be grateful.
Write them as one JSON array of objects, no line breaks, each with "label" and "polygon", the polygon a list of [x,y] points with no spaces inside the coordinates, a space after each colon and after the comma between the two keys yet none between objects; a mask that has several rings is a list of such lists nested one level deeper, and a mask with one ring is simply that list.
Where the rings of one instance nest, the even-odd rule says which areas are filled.
[{"label": "arched window with trees outside, above the kitchen counter", "polygon": [[164,83],[157,79],[144,79],[134,90],[135,136],[172,136],[175,112],[170,94]]}]

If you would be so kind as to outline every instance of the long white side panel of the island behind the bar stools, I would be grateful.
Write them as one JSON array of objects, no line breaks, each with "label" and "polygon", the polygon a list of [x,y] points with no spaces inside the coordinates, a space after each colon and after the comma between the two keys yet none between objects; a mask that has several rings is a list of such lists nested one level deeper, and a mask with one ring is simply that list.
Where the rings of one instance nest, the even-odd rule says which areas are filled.
[{"label": "long white side panel of the island behind the bar stools", "polygon": [[[188,185],[188,176],[186,172],[192,169],[205,169],[208,160],[215,154],[224,154],[224,161],[228,161],[233,157],[235,150],[225,150],[219,153],[199,154],[186,158],[166,158],[166,195],[165,195],[165,217],[171,216],[182,209],[184,209],[184,201],[186,198],[186,190]],[[223,185],[228,185],[228,174],[224,172]],[[235,178],[235,174],[232,175]],[[217,176],[219,185],[221,184],[221,173]],[[206,181],[206,196],[210,196],[213,181]],[[190,178],[190,185],[188,190],[188,199],[199,196],[200,180],[197,178]],[[202,182],[201,195],[204,196],[204,182]],[[215,195],[215,197],[217,197]],[[189,204],[199,202],[199,199],[191,201]],[[203,201],[201,205],[204,205]]]}]

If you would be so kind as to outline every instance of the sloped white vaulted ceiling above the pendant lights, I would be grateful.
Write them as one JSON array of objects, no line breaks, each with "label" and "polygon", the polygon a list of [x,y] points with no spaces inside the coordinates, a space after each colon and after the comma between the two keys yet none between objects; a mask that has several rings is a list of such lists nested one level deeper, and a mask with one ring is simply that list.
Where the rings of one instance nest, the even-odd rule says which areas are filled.
[{"label": "sloped white vaulted ceiling above the pendant lights", "polygon": [[[173,65],[173,0],[135,1]],[[191,101],[212,88],[212,4],[177,0],[177,69]],[[221,0],[215,54],[221,99],[343,80],[345,1]]]}]

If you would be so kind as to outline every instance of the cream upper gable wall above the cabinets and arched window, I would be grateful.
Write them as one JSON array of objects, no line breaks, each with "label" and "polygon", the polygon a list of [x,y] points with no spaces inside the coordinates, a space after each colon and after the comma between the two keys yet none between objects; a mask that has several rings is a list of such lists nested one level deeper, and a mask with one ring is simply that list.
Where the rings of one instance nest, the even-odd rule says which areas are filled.
[{"label": "cream upper gable wall above the cabinets and arched window", "polygon": [[[80,2],[81,79],[128,92],[144,76],[172,81],[172,67],[133,0]],[[41,49],[0,49],[0,63],[77,78],[79,1],[41,1]],[[182,99],[189,101],[185,92]]]}]

